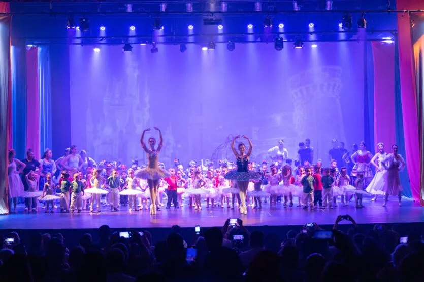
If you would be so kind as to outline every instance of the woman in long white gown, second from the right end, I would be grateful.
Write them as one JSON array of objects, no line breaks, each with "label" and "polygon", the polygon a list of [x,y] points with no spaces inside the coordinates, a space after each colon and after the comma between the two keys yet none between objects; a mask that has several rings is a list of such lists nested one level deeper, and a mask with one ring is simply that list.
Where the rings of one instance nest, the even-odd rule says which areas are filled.
[{"label": "woman in long white gown, second from the right end", "polygon": [[[375,175],[373,180],[371,180],[370,184],[368,185],[366,191],[370,194],[373,194],[374,196],[371,198],[371,200],[376,200],[378,195],[385,195],[386,194],[386,188],[385,181],[382,179],[384,178],[384,174],[387,172],[382,165],[382,160],[386,158],[387,153],[384,152],[384,144],[378,143],[377,144],[378,153],[376,153],[373,158],[370,161],[370,164],[375,167]],[[355,185],[356,186],[356,185]]]}]

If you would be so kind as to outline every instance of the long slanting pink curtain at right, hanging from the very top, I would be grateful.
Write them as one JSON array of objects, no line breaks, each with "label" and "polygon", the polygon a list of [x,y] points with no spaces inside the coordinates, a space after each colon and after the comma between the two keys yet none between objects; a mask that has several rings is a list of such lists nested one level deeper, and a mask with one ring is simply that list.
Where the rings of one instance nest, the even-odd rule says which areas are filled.
[{"label": "long slanting pink curtain at right, hanging from the very top", "polygon": [[[421,0],[398,0],[397,9],[420,9]],[[418,138],[418,114],[414,61],[412,54],[411,25],[409,14],[398,14],[399,65],[402,93],[402,115],[405,132],[406,161],[412,196],[422,204],[420,196],[421,162]]]}]

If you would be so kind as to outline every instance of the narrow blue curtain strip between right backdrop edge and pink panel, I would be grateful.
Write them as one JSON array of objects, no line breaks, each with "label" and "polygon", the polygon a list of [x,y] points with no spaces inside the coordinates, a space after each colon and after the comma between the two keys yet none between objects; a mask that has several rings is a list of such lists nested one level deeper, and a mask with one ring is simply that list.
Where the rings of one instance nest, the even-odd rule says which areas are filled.
[{"label": "narrow blue curtain strip between right backdrop edge and pink panel", "polygon": [[367,149],[374,148],[374,60],[371,42],[364,50],[364,141]]}]

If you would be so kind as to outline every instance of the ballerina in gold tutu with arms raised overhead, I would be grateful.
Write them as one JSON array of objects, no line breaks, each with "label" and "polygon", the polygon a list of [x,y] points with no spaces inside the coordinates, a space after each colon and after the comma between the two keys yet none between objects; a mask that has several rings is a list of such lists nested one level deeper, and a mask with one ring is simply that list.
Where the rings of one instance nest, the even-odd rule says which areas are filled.
[{"label": "ballerina in gold tutu with arms raised overhead", "polygon": [[162,132],[157,127],[154,127],[155,130],[159,132],[159,145],[155,149],[156,139],[154,137],[150,137],[148,142],[150,148],[147,148],[146,143],[144,143],[144,135],[147,131],[150,131],[150,128],[143,130],[143,134],[140,138],[141,146],[147,154],[147,168],[137,170],[135,175],[136,177],[147,179],[147,184],[149,185],[150,191],[150,214],[156,214],[156,205],[155,199],[157,196],[157,186],[159,184],[159,179],[167,178],[171,176],[171,174],[165,169],[159,168],[159,153],[162,149],[162,145],[164,144],[164,138],[162,137]]}]

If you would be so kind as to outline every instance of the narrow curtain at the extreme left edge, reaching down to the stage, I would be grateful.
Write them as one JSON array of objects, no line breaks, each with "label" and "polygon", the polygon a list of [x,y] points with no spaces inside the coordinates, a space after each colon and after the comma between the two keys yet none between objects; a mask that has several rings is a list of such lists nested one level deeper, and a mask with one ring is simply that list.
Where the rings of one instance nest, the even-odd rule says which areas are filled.
[{"label": "narrow curtain at the extreme left edge, reaching down to the stage", "polygon": [[[8,13],[9,3],[0,2],[0,12]],[[10,66],[11,16],[0,16],[0,214],[8,214],[8,150],[12,147],[12,88]]]}]

